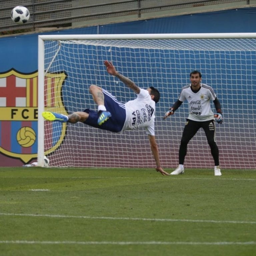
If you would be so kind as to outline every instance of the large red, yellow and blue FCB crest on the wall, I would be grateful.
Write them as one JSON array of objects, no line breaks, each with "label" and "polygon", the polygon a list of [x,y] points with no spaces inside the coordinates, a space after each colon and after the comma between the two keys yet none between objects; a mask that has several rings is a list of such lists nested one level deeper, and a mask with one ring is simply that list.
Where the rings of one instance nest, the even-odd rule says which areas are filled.
[{"label": "large red, yellow and blue FCB crest on the wall", "polygon": [[[45,88],[55,84],[58,100],[64,73],[46,76]],[[11,69],[0,73],[0,152],[11,158],[19,158],[24,163],[37,157],[37,120],[38,120],[38,72],[20,73]],[[58,96],[59,95],[59,96]],[[45,102],[49,99],[45,98]],[[59,101],[60,102],[60,101]],[[61,106],[60,106],[61,108]],[[63,107],[64,109],[64,107]],[[66,126],[61,134],[65,134]],[[59,139],[48,153],[61,144]]]}]

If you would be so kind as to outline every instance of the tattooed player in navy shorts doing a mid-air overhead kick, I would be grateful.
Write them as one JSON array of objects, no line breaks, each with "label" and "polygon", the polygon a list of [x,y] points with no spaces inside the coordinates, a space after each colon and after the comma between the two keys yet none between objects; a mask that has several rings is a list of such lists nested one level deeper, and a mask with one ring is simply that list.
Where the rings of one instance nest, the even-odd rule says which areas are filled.
[{"label": "tattooed player in navy shorts doing a mid-air overhead kick", "polygon": [[123,104],[106,90],[96,86],[90,86],[90,93],[98,111],[85,109],[83,112],[74,112],[68,116],[44,111],[42,116],[48,121],[69,122],[84,124],[108,130],[111,132],[122,132],[124,130],[137,130],[145,128],[152,154],[156,161],[156,171],[162,175],[169,175],[165,172],[159,160],[158,146],[155,140],[155,103],[159,101],[160,93],[153,86],[147,89],[140,89],[129,78],[118,73],[109,61],[104,61],[107,72],[118,77],[124,84],[131,88],[138,96],[136,99]]}]

